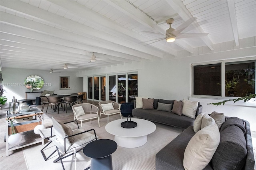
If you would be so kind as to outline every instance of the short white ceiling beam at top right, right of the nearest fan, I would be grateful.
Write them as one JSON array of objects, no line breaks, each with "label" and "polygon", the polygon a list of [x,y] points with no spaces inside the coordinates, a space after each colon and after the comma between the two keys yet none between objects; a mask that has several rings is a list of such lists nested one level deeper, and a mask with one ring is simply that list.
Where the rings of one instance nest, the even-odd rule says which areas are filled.
[{"label": "short white ceiling beam at top right, right of the nearest fan", "polygon": [[231,20],[231,24],[232,24],[234,40],[236,42],[236,46],[238,46],[239,39],[238,39],[238,29],[237,29],[237,22],[236,22],[236,12],[235,12],[234,0],[228,0],[228,10],[229,10],[230,20]]}]

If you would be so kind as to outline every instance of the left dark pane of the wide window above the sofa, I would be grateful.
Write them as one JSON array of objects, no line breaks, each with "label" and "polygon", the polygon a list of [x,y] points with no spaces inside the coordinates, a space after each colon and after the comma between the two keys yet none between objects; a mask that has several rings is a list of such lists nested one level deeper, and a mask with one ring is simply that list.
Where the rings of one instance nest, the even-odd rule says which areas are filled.
[{"label": "left dark pane of the wide window above the sofa", "polygon": [[194,66],[194,95],[221,96],[221,63]]}]

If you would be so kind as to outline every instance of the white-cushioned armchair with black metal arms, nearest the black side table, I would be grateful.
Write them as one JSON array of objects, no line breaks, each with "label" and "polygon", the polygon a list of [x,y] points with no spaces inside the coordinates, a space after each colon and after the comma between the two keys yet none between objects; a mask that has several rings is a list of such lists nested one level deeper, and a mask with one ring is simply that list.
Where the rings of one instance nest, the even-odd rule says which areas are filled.
[{"label": "white-cushioned armchair with black metal arms, nearest the black side table", "polygon": [[[94,129],[84,130],[82,128],[79,128],[72,131],[69,126],[65,125],[64,123],[57,122],[53,117],[52,124],[55,136],[50,138],[50,140],[56,146],[56,150],[59,155],[59,157],[56,158],[56,160],[54,160],[53,162],[55,163],[60,160],[63,170],[65,168],[62,159],[73,154],[76,155],[77,152],[80,152],[84,149],[84,146],[86,144],[98,139],[98,136],[96,135]],[[94,133],[92,134],[90,133],[90,131],[93,131]]]}]

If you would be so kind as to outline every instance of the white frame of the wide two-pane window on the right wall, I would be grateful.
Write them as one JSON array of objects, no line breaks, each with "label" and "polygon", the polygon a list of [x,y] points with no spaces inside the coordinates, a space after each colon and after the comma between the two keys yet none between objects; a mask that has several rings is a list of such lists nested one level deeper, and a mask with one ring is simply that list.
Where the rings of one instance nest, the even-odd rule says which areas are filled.
[{"label": "white frame of the wide two-pane window on the right wall", "polygon": [[[241,59],[228,59],[228,60],[218,60],[218,61],[210,61],[210,62],[202,62],[202,63],[192,63],[191,64],[191,87],[190,87],[190,95],[191,97],[198,97],[198,98],[208,98],[208,99],[236,99],[238,97],[228,97],[225,96],[225,63],[235,63],[235,62],[253,62],[255,63],[256,68],[256,59],[253,58],[241,58]],[[221,96],[212,96],[212,95],[194,95],[194,66],[200,65],[209,65],[209,64],[218,64],[221,63]],[[256,83],[255,83],[256,85]],[[256,94],[256,88],[254,91]]]}]

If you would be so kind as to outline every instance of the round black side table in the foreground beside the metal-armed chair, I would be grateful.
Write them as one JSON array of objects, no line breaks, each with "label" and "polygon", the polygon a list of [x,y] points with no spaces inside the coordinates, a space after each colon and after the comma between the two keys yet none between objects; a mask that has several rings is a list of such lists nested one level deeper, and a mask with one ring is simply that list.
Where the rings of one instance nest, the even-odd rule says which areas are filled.
[{"label": "round black side table in the foreground beside the metal-armed chair", "polygon": [[91,158],[91,170],[112,170],[112,156],[117,144],[114,140],[98,139],[84,146],[84,154]]}]

